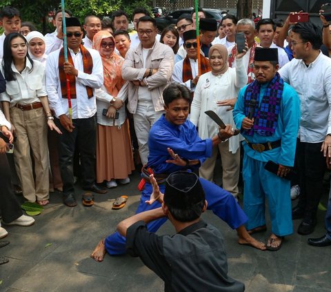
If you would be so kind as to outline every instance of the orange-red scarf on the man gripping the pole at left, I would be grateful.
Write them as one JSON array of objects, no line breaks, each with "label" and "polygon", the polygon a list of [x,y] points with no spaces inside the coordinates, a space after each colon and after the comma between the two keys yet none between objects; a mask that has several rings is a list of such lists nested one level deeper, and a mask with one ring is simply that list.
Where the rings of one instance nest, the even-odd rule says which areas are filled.
[{"label": "orange-red scarf on the man gripping the pole at left", "polygon": [[[81,50],[81,55],[83,56],[83,70],[87,74],[92,74],[93,68],[93,59],[90,52],[83,46],[80,45],[79,49]],[[72,61],[72,57],[70,55],[70,51],[68,49],[68,62],[74,66],[74,62]],[[64,48],[61,48],[59,54],[59,77],[61,83],[61,94],[62,98],[68,98],[67,95],[67,75],[63,70],[64,67]],[[68,75],[68,79],[70,81],[70,97],[72,99],[77,98],[76,95],[76,77],[74,75]],[[93,88],[90,86],[86,86],[86,91],[88,93],[88,98],[93,97]]]}]

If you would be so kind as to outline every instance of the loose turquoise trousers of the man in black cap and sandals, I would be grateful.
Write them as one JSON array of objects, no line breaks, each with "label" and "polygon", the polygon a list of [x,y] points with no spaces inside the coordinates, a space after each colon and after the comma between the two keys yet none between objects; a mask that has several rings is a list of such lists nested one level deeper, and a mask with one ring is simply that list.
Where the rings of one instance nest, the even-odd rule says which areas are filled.
[{"label": "loose turquoise trousers of the man in black cap and sandals", "polygon": [[243,211],[248,230],[265,224],[265,198],[268,199],[272,233],[293,232],[290,181],[264,169],[266,162],[243,157]]}]

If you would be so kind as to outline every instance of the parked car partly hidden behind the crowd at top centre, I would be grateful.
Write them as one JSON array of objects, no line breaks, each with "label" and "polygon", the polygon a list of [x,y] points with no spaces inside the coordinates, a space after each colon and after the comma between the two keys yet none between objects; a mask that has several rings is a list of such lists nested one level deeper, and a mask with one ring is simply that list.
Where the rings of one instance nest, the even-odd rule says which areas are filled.
[{"label": "parked car partly hidden behind the crowd at top centre", "polygon": [[[222,14],[223,11],[219,9],[211,9],[211,8],[203,8],[203,11],[205,12],[205,17],[207,18],[213,18],[217,21],[222,20]],[[174,12],[171,12],[165,17],[158,17],[156,18],[157,21],[157,28],[161,32],[163,28],[169,26],[170,24],[177,23],[177,19],[181,16],[181,14],[191,14],[192,8],[188,9],[179,9],[175,10]]]}]

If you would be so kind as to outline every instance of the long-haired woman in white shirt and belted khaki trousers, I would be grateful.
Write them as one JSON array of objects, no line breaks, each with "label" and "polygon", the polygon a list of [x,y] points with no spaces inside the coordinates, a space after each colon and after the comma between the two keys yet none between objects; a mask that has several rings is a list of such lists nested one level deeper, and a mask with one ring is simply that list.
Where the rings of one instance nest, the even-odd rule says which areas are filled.
[{"label": "long-haired woman in white shirt and belted khaki trousers", "polygon": [[48,105],[45,67],[39,61],[32,61],[27,45],[25,37],[17,32],[6,36],[1,72],[7,84],[0,99],[3,113],[17,135],[14,161],[23,196],[28,202],[46,205],[49,199],[47,126],[61,132]]}]

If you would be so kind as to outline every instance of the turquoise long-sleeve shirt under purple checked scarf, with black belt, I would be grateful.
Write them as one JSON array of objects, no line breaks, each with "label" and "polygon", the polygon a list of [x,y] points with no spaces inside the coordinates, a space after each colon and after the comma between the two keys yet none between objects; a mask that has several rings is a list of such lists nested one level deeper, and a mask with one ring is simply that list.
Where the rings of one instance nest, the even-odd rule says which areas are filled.
[{"label": "turquoise long-sleeve shirt under purple checked scarf, with black belt", "polygon": [[[262,97],[265,93],[265,89],[268,84],[261,84],[259,102],[261,104]],[[244,95],[247,86],[241,88],[237,103],[234,106],[233,117],[237,128],[241,129],[243,118],[245,118],[244,110]],[[267,143],[274,142],[281,139],[281,146],[272,150],[266,150],[259,152],[253,150],[247,143],[243,142],[243,148],[245,153],[253,159],[260,160],[262,162],[268,162],[272,160],[277,164],[283,166],[294,165],[295,148],[297,145],[297,134],[300,123],[300,99],[296,91],[284,82],[283,95],[281,97],[281,108],[279,110],[279,118],[277,121],[277,128],[272,136],[262,136],[254,132],[252,136],[245,135],[241,131],[241,134],[250,143]]]}]

